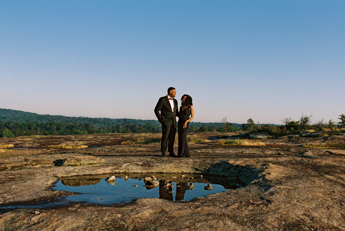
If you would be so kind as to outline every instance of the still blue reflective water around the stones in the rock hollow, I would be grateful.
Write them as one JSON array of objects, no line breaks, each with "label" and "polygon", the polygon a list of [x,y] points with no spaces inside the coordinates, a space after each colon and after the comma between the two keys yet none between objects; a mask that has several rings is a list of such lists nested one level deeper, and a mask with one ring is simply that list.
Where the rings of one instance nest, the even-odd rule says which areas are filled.
[{"label": "still blue reflective water around the stones in the rock hollow", "polygon": [[[157,177],[158,178],[158,177]],[[159,181],[159,180],[157,180]],[[108,183],[105,178],[93,180],[90,185],[78,185],[78,183],[70,183],[68,181],[59,181],[54,190],[69,191],[81,193],[79,195],[69,196],[66,198],[70,201],[87,201],[90,203],[112,204],[120,202],[130,202],[136,198],[161,198],[168,200],[191,200],[193,198],[205,197],[209,194],[215,194],[227,191],[224,186],[213,184],[207,179],[199,178],[199,182],[172,179],[173,187],[165,188],[163,182],[157,187],[145,187],[144,180],[117,177],[112,184]],[[201,181],[201,182],[200,182]],[[202,182],[204,181],[204,182]],[[85,182],[85,181],[84,181]],[[193,189],[185,188],[188,182],[193,182]],[[65,183],[65,184],[64,184]],[[211,183],[212,190],[205,190],[205,186]],[[78,185],[78,186],[70,186]],[[134,187],[138,185],[138,187]]]}]

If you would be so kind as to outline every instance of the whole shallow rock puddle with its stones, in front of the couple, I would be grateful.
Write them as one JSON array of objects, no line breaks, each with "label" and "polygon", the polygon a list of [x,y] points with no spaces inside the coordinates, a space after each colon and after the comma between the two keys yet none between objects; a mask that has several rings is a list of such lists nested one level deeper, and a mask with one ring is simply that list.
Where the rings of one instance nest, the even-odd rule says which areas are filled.
[{"label": "whole shallow rock puddle with its stones, in front of the couple", "polygon": [[[144,175],[114,175],[114,181],[106,177],[79,176],[59,181],[54,190],[80,193],[66,198],[70,201],[113,204],[130,202],[137,198],[161,198],[167,200],[191,200],[241,187],[240,181],[224,177],[200,175],[152,174],[159,185],[147,186]],[[147,175],[146,175],[147,176]],[[189,179],[187,179],[187,177]],[[193,179],[192,179],[193,178]],[[167,184],[168,183],[168,184]],[[171,184],[171,186],[169,186]],[[207,186],[211,184],[211,187]],[[192,187],[191,187],[192,185]]]}]

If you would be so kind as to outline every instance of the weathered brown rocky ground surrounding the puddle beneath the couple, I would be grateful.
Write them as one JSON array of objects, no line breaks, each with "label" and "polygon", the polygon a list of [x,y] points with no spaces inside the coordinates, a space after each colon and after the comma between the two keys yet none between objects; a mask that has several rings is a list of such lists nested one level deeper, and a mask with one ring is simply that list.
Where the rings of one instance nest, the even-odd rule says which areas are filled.
[{"label": "weathered brown rocky ground surrounding the puddle beneath the couple", "polygon": [[[45,150],[39,154],[2,158],[0,166],[21,165],[23,168],[0,171],[0,230],[345,230],[345,151],[300,146],[303,143],[344,142],[344,135],[263,140],[283,146],[212,145],[216,141],[190,143],[191,158],[160,158],[159,144],[120,144],[137,135],[100,134],[91,138],[80,135],[78,140],[103,147],[64,150],[64,153]],[[55,144],[76,138],[44,136],[31,139],[6,140],[21,146],[42,147],[48,146],[50,141]],[[136,148],[142,151],[134,152]],[[99,156],[106,162],[63,167],[52,164],[75,156]],[[181,186],[176,184],[176,194],[166,193],[169,200],[144,198],[119,206],[70,201],[57,208],[40,209],[40,204],[35,202],[41,202],[42,207],[55,206],[55,201],[70,196],[72,193],[52,187],[59,178],[76,175],[88,178],[94,174],[103,174],[103,178],[114,174],[117,178],[116,173],[131,178],[138,173],[140,179],[154,174],[162,181],[160,187],[163,189],[164,180],[171,180],[174,174]],[[171,175],[162,177],[160,173]],[[222,193],[175,202],[173,199],[178,192],[191,193],[184,188],[189,181],[181,178],[182,174],[194,176],[190,180],[194,183],[193,191],[197,182],[204,183],[204,190],[213,175],[223,176],[231,187]],[[200,174],[204,177],[198,177]],[[132,190],[138,190],[134,189],[135,184],[131,183]],[[211,184],[217,183],[212,181]],[[152,189],[150,187],[154,186],[146,189]],[[151,192],[159,193],[158,186]],[[102,200],[99,198],[98,202]]]}]

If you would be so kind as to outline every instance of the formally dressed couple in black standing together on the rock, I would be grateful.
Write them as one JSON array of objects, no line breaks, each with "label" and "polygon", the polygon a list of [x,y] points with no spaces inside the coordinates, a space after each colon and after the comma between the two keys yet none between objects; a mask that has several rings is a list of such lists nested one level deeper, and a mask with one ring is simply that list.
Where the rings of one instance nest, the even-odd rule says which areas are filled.
[{"label": "formally dressed couple in black standing together on the rock", "polygon": [[[194,108],[192,98],[183,95],[181,106],[178,110],[176,90],[173,87],[168,88],[168,95],[161,97],[155,107],[155,114],[158,121],[162,124],[162,142],[161,157],[165,157],[168,147],[170,157],[190,157],[187,131],[189,122],[194,118]],[[173,153],[173,142],[176,134],[176,116],[178,117],[178,155]]]}]

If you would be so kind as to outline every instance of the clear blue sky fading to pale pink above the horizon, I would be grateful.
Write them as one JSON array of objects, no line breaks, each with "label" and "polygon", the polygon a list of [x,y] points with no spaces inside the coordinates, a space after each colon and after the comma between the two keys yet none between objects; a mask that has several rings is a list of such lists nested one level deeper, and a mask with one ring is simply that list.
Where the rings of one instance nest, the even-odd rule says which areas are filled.
[{"label": "clear blue sky fading to pale pink above the horizon", "polygon": [[0,0],[0,108],[194,122],[345,114],[344,0]]}]

